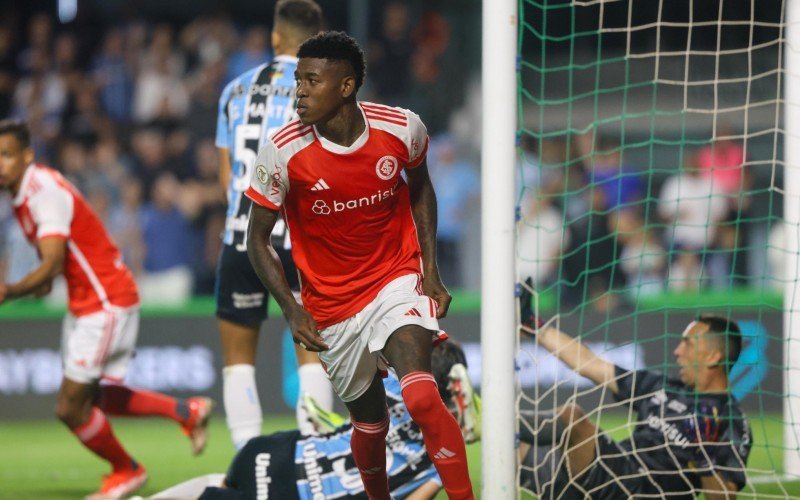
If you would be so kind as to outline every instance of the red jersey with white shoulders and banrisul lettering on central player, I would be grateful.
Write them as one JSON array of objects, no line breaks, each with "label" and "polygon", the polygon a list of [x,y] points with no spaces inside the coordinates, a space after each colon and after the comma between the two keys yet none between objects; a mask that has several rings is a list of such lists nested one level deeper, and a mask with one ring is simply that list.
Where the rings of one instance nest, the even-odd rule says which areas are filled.
[{"label": "red jersey with white shoulders and banrisul lettering on central player", "polygon": [[283,210],[303,305],[318,327],[353,316],[390,281],[420,273],[404,168],[425,159],[428,134],[411,111],[359,103],[367,126],[349,147],[299,120],[261,149],[247,196]]}]

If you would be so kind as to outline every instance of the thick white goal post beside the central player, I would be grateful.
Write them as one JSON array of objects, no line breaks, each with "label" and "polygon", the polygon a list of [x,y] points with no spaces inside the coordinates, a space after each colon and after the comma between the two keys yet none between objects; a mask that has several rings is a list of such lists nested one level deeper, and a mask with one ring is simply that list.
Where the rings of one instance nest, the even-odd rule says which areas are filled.
[{"label": "thick white goal post beside the central player", "polygon": [[[481,183],[482,498],[516,498],[514,165],[517,2],[483,0]],[[491,96],[488,99],[487,96]]]}]

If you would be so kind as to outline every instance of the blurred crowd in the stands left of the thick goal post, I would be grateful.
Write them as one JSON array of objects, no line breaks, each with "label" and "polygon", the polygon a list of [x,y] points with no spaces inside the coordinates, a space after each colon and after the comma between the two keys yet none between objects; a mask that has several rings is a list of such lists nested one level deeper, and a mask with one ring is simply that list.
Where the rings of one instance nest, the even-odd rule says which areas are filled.
[{"label": "blurred crowd in the stands left of the thick goal post", "polygon": [[[426,105],[432,97],[425,89],[443,73],[448,22],[435,10],[412,22],[405,2],[382,9],[365,44],[369,77],[360,98],[422,108],[437,134],[447,117]],[[37,161],[61,170],[84,193],[146,300],[213,293],[225,216],[214,146],[218,98],[229,80],[271,58],[269,24],[238,27],[214,15],[185,25],[133,20],[85,32],[45,12],[27,24],[0,22],[0,117],[28,122]],[[436,175],[477,192],[475,164],[465,166],[458,148],[441,142]],[[453,219],[443,221],[449,241],[463,231],[462,205],[442,196]],[[10,200],[0,198],[0,276],[15,281],[35,262]]]}]

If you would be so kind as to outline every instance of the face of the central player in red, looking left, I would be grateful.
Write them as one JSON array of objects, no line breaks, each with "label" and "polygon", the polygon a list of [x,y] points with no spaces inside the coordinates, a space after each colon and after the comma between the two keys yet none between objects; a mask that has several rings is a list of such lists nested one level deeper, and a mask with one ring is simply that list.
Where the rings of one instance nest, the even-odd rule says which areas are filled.
[{"label": "face of the central player in red, looking left", "polygon": [[297,62],[297,116],[303,125],[324,123],[336,116],[355,91],[348,63],[304,57]]}]

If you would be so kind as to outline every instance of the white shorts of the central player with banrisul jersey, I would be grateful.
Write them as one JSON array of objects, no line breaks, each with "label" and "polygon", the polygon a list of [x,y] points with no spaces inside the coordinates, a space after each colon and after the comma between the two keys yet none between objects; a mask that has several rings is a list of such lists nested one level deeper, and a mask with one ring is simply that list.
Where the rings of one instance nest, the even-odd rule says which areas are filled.
[{"label": "white shorts of the central player with banrisul jersey", "polygon": [[330,347],[319,358],[345,403],[364,394],[375,373],[387,369],[381,350],[398,328],[418,325],[431,331],[434,343],[447,339],[436,319],[436,302],[422,295],[419,280],[411,274],[391,281],[355,316],[319,332]]}]

